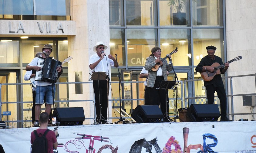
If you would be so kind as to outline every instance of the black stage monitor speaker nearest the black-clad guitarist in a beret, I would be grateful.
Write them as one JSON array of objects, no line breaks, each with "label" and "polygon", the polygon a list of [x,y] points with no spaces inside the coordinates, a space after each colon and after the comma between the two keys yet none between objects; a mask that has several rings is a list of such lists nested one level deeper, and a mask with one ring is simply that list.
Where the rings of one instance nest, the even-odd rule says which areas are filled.
[{"label": "black stage monitor speaker nearest the black-clad guitarist in a beret", "polygon": [[191,121],[217,121],[220,111],[217,104],[191,104],[187,115]]}]

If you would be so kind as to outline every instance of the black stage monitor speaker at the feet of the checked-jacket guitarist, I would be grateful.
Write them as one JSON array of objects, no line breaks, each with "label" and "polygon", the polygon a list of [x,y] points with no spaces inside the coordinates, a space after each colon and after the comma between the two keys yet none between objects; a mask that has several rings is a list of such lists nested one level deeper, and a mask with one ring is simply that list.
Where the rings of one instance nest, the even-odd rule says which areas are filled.
[{"label": "black stage monitor speaker at the feet of the checked-jacket guitarist", "polygon": [[158,122],[162,117],[163,113],[157,105],[138,105],[132,112],[132,118],[137,123]]}]

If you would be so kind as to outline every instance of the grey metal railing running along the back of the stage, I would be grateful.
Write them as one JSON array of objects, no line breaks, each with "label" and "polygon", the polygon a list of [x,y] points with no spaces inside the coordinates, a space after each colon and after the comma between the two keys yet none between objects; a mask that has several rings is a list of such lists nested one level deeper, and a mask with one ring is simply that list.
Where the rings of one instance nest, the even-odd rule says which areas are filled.
[{"label": "grey metal railing running along the back of the stage", "polygon": [[[234,120],[234,116],[235,115],[253,115],[253,119],[254,119],[254,115],[256,113],[254,113],[254,107],[253,107],[253,111],[249,112],[249,113],[235,113],[234,112],[234,97],[235,96],[248,96],[248,95],[256,95],[256,92],[254,93],[244,93],[244,94],[233,94],[233,78],[238,78],[238,77],[251,77],[254,76],[255,77],[255,86],[256,86],[256,73],[255,74],[248,74],[248,75],[239,75],[239,76],[228,76],[228,77],[223,77],[226,80],[229,79],[229,93],[227,94],[227,97],[229,98],[228,101],[231,102],[231,106],[228,105],[228,110],[231,109],[231,113],[228,113],[227,115],[231,115],[232,119]],[[195,99],[198,99],[199,97],[195,96],[195,97],[188,97],[187,96],[187,89],[186,89],[186,85],[188,82],[195,82],[195,81],[200,81],[203,79],[198,79],[198,80],[184,80],[184,81],[180,81],[180,98],[177,98],[177,100],[181,101],[181,107],[188,107],[190,103],[188,103],[189,99],[193,99],[193,103],[195,102]],[[70,83],[56,83],[56,84],[76,84],[76,83],[92,83],[92,82],[70,82]],[[113,81],[111,83],[119,83],[118,81]],[[121,83],[140,83],[143,84],[144,81],[122,81]],[[31,103],[31,101],[17,101],[17,102],[2,102],[2,86],[8,86],[8,85],[29,85],[30,83],[0,83],[0,112],[2,113],[2,104],[12,104],[12,103],[16,103],[16,104],[23,104],[23,103]],[[255,87],[256,88],[256,87]],[[184,89],[184,90],[183,90]],[[133,90],[133,89],[131,89]],[[256,91],[256,89],[255,89]],[[217,96],[215,96],[217,97]],[[200,97],[201,99],[206,99],[207,97]],[[144,100],[143,99],[119,99],[119,97],[117,99],[109,99],[109,101],[139,101],[139,100]],[[170,98],[169,96],[169,100],[176,100],[176,98]],[[89,100],[56,100],[55,103],[60,103],[60,102],[95,102],[95,99],[89,99]],[[114,108],[115,109],[115,108]],[[134,109],[134,108],[133,108]],[[123,111],[123,110],[122,110]],[[120,113],[120,112],[118,112]],[[96,113],[94,113],[96,114]],[[1,114],[2,115],[2,114]],[[23,116],[23,112],[22,112],[22,116]],[[85,119],[93,119],[95,121],[96,116],[94,115],[93,118],[85,118]],[[130,119],[131,117],[123,117],[124,119]],[[109,117],[109,119],[117,119],[116,117]],[[0,118],[0,121],[2,120],[2,118]],[[31,120],[6,120],[5,122],[31,122]]]}]

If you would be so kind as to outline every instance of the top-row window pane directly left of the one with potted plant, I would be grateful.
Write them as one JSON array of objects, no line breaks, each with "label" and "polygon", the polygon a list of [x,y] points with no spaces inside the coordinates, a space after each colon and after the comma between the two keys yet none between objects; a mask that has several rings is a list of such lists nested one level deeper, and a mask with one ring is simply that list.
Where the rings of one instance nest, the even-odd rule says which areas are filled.
[{"label": "top-row window pane directly left of the one with potted plant", "polygon": [[155,0],[126,0],[126,25],[154,25]]}]

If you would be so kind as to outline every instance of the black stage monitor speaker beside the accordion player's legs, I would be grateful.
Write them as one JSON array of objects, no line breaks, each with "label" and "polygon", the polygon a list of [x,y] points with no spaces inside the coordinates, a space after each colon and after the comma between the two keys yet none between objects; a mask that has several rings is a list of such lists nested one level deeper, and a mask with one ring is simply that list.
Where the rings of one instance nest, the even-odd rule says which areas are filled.
[{"label": "black stage monitor speaker beside the accordion player's legs", "polygon": [[56,117],[60,126],[82,125],[84,121],[83,107],[54,108],[52,117]]}]

